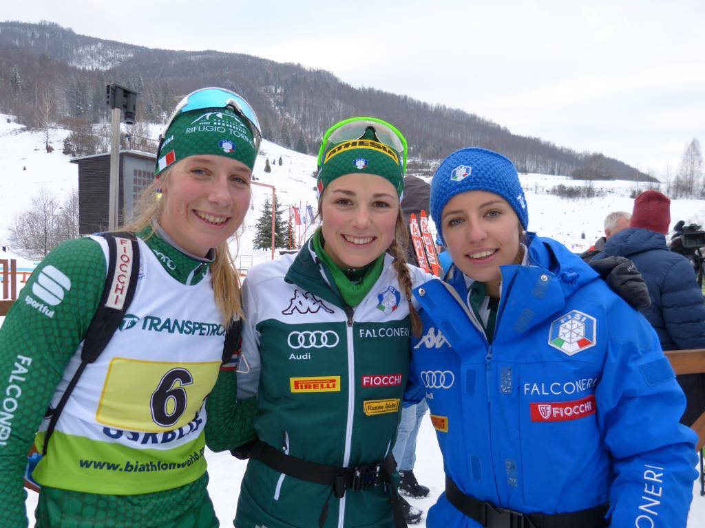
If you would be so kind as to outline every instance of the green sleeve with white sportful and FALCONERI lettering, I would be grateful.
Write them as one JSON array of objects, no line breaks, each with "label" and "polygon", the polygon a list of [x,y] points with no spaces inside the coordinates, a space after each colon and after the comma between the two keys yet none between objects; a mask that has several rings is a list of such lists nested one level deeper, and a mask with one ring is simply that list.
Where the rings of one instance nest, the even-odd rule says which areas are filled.
[{"label": "green sleeve with white sportful and FALCONERI lettering", "polygon": [[90,325],[105,274],[96,241],[61,244],[37,266],[0,327],[0,489],[6,527],[27,526],[27,451]]}]

